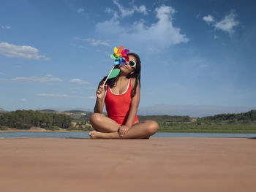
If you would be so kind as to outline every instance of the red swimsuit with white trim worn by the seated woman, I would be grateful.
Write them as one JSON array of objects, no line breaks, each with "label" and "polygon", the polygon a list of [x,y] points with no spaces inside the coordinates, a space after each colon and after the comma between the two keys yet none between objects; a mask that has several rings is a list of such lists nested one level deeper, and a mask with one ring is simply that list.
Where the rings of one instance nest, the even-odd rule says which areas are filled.
[{"label": "red swimsuit with white trim worn by the seated woman", "polygon": [[[105,104],[106,110],[108,112],[108,118],[113,119],[120,126],[125,125],[127,123],[130,105],[132,102],[132,83],[131,79],[129,79],[129,84],[127,86],[127,90],[120,95],[116,95],[112,93],[109,86],[107,85],[107,93],[105,96]],[[138,116],[136,115],[133,124],[138,120]]]}]

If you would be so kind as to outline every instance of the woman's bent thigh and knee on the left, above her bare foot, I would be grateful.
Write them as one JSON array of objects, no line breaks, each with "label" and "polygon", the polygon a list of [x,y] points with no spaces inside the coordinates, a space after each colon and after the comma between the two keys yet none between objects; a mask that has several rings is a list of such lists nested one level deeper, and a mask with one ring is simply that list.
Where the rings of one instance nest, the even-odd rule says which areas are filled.
[{"label": "woman's bent thigh and knee on the left, above her bare foot", "polygon": [[112,120],[102,113],[94,113],[90,118],[91,126],[99,132],[110,133],[117,132],[120,127],[115,120]]}]

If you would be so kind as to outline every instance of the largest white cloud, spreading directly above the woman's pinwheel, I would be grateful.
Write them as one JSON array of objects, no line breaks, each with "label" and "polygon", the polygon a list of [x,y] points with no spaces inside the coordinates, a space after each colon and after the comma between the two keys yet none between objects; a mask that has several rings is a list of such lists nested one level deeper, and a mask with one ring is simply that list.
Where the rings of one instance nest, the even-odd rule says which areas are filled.
[{"label": "largest white cloud, spreading directly above the woman's pinwheel", "polygon": [[180,28],[173,26],[175,13],[173,7],[161,6],[155,11],[157,12],[157,23],[151,23],[149,26],[145,24],[144,20],[138,20],[127,27],[114,16],[110,20],[97,23],[96,30],[106,38],[113,39],[114,37],[112,42],[122,42],[123,45],[131,45],[135,49],[135,46],[162,49],[189,41],[185,34],[181,34]]}]

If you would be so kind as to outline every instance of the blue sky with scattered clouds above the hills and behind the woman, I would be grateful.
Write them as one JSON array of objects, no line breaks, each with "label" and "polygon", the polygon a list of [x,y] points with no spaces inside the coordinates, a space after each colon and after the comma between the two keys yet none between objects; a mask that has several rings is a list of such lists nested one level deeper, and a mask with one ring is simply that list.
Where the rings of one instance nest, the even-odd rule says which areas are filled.
[{"label": "blue sky with scattered clouds above the hills and behind the woman", "polygon": [[0,107],[93,109],[113,47],[140,106],[256,107],[255,1],[0,1]]}]

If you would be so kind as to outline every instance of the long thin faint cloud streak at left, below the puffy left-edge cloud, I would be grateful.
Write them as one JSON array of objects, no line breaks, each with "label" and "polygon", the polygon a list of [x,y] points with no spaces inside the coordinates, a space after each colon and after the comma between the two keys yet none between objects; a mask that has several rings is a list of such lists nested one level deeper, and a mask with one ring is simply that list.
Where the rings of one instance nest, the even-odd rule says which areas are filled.
[{"label": "long thin faint cloud streak at left, below the puffy left-edge cloud", "polygon": [[53,77],[52,75],[45,75],[45,77],[15,77],[12,79],[15,82],[36,82],[36,83],[57,83],[62,82],[58,77]]}]

